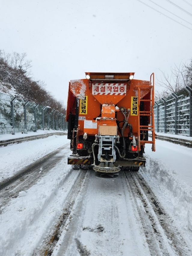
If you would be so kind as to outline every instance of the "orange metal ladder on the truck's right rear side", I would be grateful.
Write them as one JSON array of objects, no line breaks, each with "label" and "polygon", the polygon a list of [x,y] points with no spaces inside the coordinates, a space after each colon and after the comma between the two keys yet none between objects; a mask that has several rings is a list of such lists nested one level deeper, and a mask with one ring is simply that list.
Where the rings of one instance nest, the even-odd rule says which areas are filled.
[{"label": "orange metal ladder on the truck's right rear side", "polygon": [[[141,146],[144,146],[145,143],[152,144],[152,151],[155,151],[155,126],[154,126],[154,73],[150,76],[150,84],[151,85],[138,85],[136,89],[138,90],[138,106],[140,106],[140,102],[150,102],[150,111],[139,111],[138,109],[138,150],[141,150]],[[141,92],[142,90],[150,90],[150,99],[141,99]],[[150,125],[141,125],[140,124],[140,117],[147,116],[150,118],[151,123]],[[140,135],[141,131],[151,131],[152,133],[152,140],[141,140]]]}]

